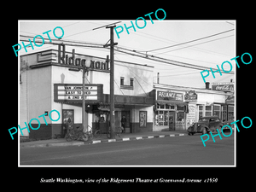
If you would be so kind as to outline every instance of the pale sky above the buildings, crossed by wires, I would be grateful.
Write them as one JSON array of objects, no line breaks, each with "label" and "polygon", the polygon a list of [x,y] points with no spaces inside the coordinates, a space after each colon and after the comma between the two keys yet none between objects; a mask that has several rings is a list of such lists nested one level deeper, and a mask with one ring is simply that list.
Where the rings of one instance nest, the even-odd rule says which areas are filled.
[{"label": "pale sky above the buildings, crossed by wires", "polygon": [[[42,35],[47,38],[43,32],[49,32],[49,36],[55,39],[53,29],[61,26],[64,30],[63,40],[76,40],[87,43],[106,44],[110,38],[110,30],[102,27],[93,30],[99,26],[105,26],[114,22],[121,21],[116,26],[123,26],[124,31],[119,33],[119,38],[114,32],[114,43],[125,49],[134,49],[143,51],[148,55],[155,55],[173,61],[186,62],[203,67],[221,68],[224,61],[230,61],[236,57],[236,20],[153,20],[154,24],[145,18],[147,23],[143,29],[137,28],[135,20],[19,20],[20,35],[36,36]],[[131,27],[130,34],[125,30],[124,24],[128,27],[133,22],[136,32]],[[143,20],[137,22],[138,26],[143,26]],[[225,32],[232,30],[230,32]],[[117,29],[119,32],[120,28]],[[57,36],[61,36],[61,30],[55,31]],[[225,32],[211,38],[204,38],[213,34]],[[189,44],[182,44],[197,38],[204,38]],[[32,38],[31,38],[32,40]],[[18,44],[21,44],[19,41]],[[29,44],[24,42],[24,44]],[[172,48],[160,49],[167,46],[181,44]],[[26,55],[45,49],[58,49],[57,45],[44,44],[41,47],[33,46],[20,49],[20,55]],[[109,49],[93,49],[66,46],[67,51],[75,49],[76,53],[84,55],[94,55],[99,57],[107,57],[110,55]],[[154,50],[159,49],[159,50]],[[205,88],[205,83],[201,77],[202,70],[195,70],[187,67],[177,67],[159,61],[150,61],[144,58],[126,55],[114,52],[114,59],[119,61],[130,61],[139,64],[147,64],[154,67],[154,83],[156,83],[156,75],[160,73],[160,84],[172,84],[178,86]],[[235,61],[232,63],[232,72],[236,72]],[[226,71],[230,70],[228,64],[224,65]],[[214,73],[206,78],[207,82],[224,83],[236,81],[235,75],[230,73]]]}]

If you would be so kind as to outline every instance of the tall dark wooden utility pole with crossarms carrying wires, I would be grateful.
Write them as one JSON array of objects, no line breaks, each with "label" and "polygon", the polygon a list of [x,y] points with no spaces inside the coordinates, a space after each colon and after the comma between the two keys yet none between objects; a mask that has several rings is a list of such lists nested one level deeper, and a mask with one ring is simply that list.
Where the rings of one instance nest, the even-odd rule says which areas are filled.
[{"label": "tall dark wooden utility pole with crossarms carrying wires", "polygon": [[[115,138],[114,134],[114,84],[113,84],[113,76],[114,76],[114,65],[113,65],[113,46],[118,43],[113,43],[113,28],[114,26],[107,26],[106,28],[110,28],[110,44],[105,44],[103,47],[110,46],[110,137]],[[107,58],[108,60],[108,58]]]}]

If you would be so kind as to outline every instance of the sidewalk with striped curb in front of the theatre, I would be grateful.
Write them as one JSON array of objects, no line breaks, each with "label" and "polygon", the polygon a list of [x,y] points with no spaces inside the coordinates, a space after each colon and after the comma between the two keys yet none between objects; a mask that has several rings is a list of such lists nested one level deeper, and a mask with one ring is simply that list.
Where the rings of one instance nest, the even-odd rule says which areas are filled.
[{"label": "sidewalk with striped curb in front of the theatre", "polygon": [[73,141],[67,142],[65,138],[41,140],[35,142],[20,143],[22,147],[57,147],[57,146],[72,146],[96,143],[111,143],[111,142],[125,142],[139,139],[161,138],[161,137],[179,137],[186,136],[187,131],[150,131],[150,132],[137,132],[137,133],[123,133],[121,137],[116,136],[115,139],[108,139],[106,134],[102,134],[100,138],[93,138],[92,141],[82,142]]}]

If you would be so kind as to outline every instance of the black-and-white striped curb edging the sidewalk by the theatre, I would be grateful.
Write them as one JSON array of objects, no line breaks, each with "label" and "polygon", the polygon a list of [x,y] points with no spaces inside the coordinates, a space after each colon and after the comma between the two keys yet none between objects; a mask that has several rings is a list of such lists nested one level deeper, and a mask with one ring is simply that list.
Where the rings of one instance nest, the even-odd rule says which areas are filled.
[{"label": "black-and-white striped curb edging the sidewalk by the theatre", "polygon": [[61,146],[79,146],[85,144],[96,144],[96,143],[113,143],[113,142],[126,142],[142,139],[151,139],[151,138],[163,138],[163,137],[179,137],[185,136],[186,134],[169,134],[169,135],[159,135],[159,136],[143,136],[143,137],[125,137],[125,138],[115,138],[115,139],[102,139],[89,142],[70,142],[70,143],[44,143],[44,144],[33,144],[33,145],[22,145],[20,148],[33,148],[33,147],[61,147]]}]

